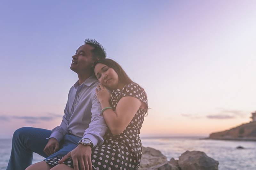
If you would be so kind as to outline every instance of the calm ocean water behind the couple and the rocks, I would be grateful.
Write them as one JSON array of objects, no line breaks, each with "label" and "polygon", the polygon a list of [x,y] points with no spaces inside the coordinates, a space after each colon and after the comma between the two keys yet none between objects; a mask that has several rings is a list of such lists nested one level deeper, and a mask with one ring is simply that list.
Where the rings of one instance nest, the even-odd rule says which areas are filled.
[{"label": "calm ocean water behind the couple and the rocks", "polygon": [[[255,170],[256,142],[200,140],[202,137],[141,137],[142,145],[160,150],[167,159],[179,159],[188,151],[203,151],[219,161],[219,170]],[[236,149],[243,146],[245,149]],[[5,170],[11,153],[11,139],[0,139],[0,170]],[[34,154],[33,163],[44,158]]]}]

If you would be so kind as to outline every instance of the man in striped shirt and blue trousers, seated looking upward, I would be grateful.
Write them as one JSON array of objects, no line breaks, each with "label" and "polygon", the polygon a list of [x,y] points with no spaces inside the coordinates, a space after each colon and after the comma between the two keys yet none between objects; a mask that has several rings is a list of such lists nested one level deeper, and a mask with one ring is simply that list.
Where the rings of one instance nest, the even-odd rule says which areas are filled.
[{"label": "man in striped shirt and blue trousers, seated looking upward", "polygon": [[[103,143],[107,130],[95,94],[99,83],[92,75],[93,64],[105,58],[106,51],[96,40],[86,39],[84,43],[72,56],[70,69],[77,73],[78,81],[69,90],[60,126],[52,131],[31,127],[17,129],[12,137],[7,170],[26,169],[32,163],[33,152],[50,159],[71,151],[69,154],[73,161],[78,162],[74,163],[75,169],[81,162],[90,166],[91,148]],[[44,161],[32,166],[50,167]]]}]

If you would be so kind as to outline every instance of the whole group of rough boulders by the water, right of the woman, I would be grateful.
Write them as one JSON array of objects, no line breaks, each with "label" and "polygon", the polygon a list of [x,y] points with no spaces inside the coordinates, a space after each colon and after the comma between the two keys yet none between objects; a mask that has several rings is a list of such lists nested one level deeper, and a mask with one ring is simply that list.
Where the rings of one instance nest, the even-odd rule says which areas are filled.
[{"label": "whole group of rough boulders by the water, right of the woman", "polygon": [[143,147],[139,170],[218,170],[218,165],[218,161],[200,151],[186,151],[179,160],[167,161],[160,151]]}]

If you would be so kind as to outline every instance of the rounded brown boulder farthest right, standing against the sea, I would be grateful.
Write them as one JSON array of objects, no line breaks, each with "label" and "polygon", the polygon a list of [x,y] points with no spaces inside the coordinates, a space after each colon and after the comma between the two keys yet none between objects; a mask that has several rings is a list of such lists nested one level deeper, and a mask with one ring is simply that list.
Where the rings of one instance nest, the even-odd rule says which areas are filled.
[{"label": "rounded brown boulder farthest right, standing against the sea", "polygon": [[186,151],[179,157],[178,164],[182,170],[218,170],[219,162],[204,152]]}]

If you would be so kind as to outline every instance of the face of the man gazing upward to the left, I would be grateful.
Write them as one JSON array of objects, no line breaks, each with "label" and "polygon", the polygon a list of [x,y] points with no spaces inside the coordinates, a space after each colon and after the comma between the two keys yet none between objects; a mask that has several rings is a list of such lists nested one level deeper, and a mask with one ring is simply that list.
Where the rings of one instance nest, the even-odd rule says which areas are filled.
[{"label": "face of the man gazing upward to the left", "polygon": [[83,74],[91,70],[94,60],[92,58],[92,46],[85,44],[76,50],[76,54],[72,56],[70,69],[78,74]]}]

